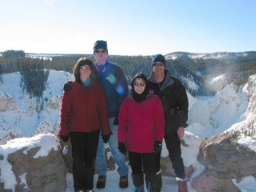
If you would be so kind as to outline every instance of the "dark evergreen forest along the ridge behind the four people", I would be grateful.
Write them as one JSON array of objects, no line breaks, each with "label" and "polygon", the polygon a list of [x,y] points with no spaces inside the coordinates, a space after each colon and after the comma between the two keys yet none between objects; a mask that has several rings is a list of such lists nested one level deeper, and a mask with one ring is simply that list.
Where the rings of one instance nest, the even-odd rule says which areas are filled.
[{"label": "dark evergreen forest along the ridge behind the four people", "polygon": [[[187,52],[181,52],[180,55],[175,60],[167,59],[166,68],[184,83],[192,95],[212,94],[207,90],[204,83],[207,79],[221,74],[228,74],[227,84],[235,83],[237,85],[246,83],[249,76],[256,74],[255,51],[246,52],[246,56],[236,56],[236,58],[229,59],[193,59],[188,56]],[[93,54],[62,54],[42,58],[40,54],[31,56],[24,51],[0,52],[0,83],[2,81],[1,74],[20,72],[23,76],[24,84],[22,86],[24,90],[33,96],[40,97],[45,89],[44,83],[49,74],[47,70],[62,70],[72,73],[74,64],[81,57],[88,57],[95,61]],[[131,83],[131,78],[137,72],[140,71],[149,76],[152,71],[151,56],[109,55],[108,60],[122,67],[128,83]],[[188,80],[198,84],[198,90],[189,87]]]}]

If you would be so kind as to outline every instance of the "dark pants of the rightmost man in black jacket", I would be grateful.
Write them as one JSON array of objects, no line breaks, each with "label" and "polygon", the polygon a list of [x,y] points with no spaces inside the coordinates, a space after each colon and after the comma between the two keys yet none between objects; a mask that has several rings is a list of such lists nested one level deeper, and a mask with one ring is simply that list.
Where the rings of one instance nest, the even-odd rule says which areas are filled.
[{"label": "dark pants of the rightmost man in black jacket", "polygon": [[[177,177],[185,179],[185,170],[183,159],[181,157],[181,149],[180,149],[180,140],[178,138],[178,134],[172,134],[164,136],[164,141],[166,143],[166,148],[169,152],[169,157],[172,161],[172,167],[174,169]],[[156,172],[160,170],[160,155],[156,154]]]}]

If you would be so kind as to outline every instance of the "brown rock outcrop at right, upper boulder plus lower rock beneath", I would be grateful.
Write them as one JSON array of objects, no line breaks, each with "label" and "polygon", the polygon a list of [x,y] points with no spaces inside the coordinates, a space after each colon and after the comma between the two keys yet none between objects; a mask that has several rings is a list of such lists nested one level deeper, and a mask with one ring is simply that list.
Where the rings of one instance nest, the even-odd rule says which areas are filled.
[{"label": "brown rock outcrop at right, upper boulder plus lower rock beneath", "polygon": [[232,179],[239,182],[249,175],[256,177],[256,153],[238,140],[237,134],[202,140],[198,161],[205,165],[205,171],[192,181],[196,191],[239,191]]}]

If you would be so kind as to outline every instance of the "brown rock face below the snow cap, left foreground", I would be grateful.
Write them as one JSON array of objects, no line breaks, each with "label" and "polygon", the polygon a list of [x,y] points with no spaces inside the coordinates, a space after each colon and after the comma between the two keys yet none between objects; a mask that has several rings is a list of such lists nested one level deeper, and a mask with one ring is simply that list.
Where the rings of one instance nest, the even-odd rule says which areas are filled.
[{"label": "brown rock face below the snow cap, left foreground", "polygon": [[[54,137],[51,134],[46,135],[46,137],[48,136]],[[45,150],[44,146],[35,145],[34,147],[22,147],[8,154],[7,161],[12,166],[12,175],[15,177],[13,179],[17,182],[15,184],[16,192],[66,190],[65,163],[60,147],[58,147],[59,150],[51,148],[47,156],[36,156],[41,148]],[[4,151],[2,150],[1,153]],[[0,161],[6,161],[4,156]],[[1,174],[1,176],[4,175]],[[1,183],[0,191],[12,191],[12,189],[4,189],[4,184]]]}]

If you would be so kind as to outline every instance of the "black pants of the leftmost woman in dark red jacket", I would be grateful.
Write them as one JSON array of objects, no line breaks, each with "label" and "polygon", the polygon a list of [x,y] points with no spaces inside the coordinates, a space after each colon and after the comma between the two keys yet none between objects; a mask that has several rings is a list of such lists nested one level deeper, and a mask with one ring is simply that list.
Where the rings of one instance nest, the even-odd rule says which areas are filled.
[{"label": "black pants of the leftmost woman in dark red jacket", "polygon": [[70,132],[74,189],[93,189],[99,131]]}]

